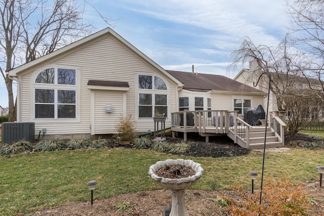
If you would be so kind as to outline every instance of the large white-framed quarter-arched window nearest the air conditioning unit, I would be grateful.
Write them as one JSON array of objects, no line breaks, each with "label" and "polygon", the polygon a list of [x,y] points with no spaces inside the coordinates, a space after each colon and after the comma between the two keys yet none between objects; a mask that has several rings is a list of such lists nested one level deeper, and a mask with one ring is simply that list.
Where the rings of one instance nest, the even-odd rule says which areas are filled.
[{"label": "large white-framed quarter-arched window nearest the air conditioning unit", "polygon": [[34,102],[35,118],[75,118],[76,70],[53,67],[39,72]]}]

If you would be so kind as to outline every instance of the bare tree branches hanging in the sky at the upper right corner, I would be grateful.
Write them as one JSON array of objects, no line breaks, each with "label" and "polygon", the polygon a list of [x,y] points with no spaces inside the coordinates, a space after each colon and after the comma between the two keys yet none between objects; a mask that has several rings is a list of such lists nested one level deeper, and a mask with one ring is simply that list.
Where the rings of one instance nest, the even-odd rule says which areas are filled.
[{"label": "bare tree branches hanging in the sky at the upper right corner", "polygon": [[292,64],[308,80],[310,89],[324,92],[324,4],[318,0],[287,1],[287,9],[290,44],[296,48],[290,53]]}]

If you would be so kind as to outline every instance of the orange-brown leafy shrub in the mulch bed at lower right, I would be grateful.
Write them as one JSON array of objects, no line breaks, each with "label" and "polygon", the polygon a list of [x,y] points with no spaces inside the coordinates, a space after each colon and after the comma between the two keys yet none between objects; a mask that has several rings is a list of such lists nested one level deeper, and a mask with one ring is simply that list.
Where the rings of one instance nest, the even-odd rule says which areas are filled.
[{"label": "orange-brown leafy shrub in the mulch bed at lower right", "polygon": [[280,181],[265,180],[261,205],[259,193],[251,194],[242,187],[238,189],[238,193],[245,201],[229,200],[230,205],[226,209],[233,215],[312,215],[309,196],[304,192],[304,188],[300,185],[293,185],[285,178]]}]

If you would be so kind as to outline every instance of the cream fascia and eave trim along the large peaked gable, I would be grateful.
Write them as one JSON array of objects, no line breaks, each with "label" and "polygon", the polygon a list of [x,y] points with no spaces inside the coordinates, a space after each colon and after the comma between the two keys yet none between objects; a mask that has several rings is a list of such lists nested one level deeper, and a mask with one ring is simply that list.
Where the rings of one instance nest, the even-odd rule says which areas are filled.
[{"label": "cream fascia and eave trim along the large peaked gable", "polygon": [[126,47],[128,47],[129,49],[131,49],[137,56],[141,57],[143,59],[144,62],[152,65],[154,68],[156,68],[158,71],[160,71],[161,73],[165,74],[166,76],[168,76],[170,79],[172,79],[175,83],[177,83],[179,86],[182,87],[182,83],[175,79],[173,76],[171,76],[169,73],[167,73],[161,66],[159,66],[158,64],[156,64],[153,60],[151,60],[150,58],[148,58],[145,54],[143,54],[141,51],[139,51],[136,47],[134,47],[133,45],[130,44],[130,42],[128,42],[126,39],[124,39],[123,37],[121,37],[119,34],[117,34],[115,31],[113,31],[111,28],[105,28],[101,31],[98,31],[94,34],[91,34],[87,37],[84,37],[80,40],[77,40],[75,42],[73,42],[70,45],[67,45],[63,48],[60,48],[52,53],[49,53],[45,56],[39,57],[33,61],[30,61],[28,63],[25,63],[21,66],[18,66],[12,70],[9,71],[9,76],[10,77],[16,77],[17,73],[21,73],[25,70],[28,70],[34,66],[37,66],[38,64],[41,64],[47,60],[50,60],[52,58],[59,58],[64,56],[66,53],[68,53],[69,51],[73,51],[73,50],[77,50],[77,49],[81,49],[85,46],[87,46],[88,44],[90,44],[91,42],[101,38],[101,37],[105,37],[105,36],[112,36],[113,38],[115,38],[116,40],[118,40],[119,42],[121,42],[121,44],[124,44]]}]

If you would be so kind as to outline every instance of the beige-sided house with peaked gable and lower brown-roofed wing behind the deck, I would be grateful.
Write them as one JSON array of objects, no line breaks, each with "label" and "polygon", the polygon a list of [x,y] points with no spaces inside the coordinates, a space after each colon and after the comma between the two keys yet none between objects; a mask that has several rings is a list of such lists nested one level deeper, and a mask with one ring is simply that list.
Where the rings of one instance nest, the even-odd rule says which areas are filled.
[{"label": "beige-sided house with peaked gable and lower brown-roofed wing behind the deck", "polygon": [[35,122],[35,134],[46,131],[48,138],[113,134],[120,114],[132,114],[136,131],[145,133],[157,114],[165,113],[170,127],[172,112],[243,112],[265,95],[225,76],[166,71],[110,28],[9,76],[17,80],[17,121]]}]

